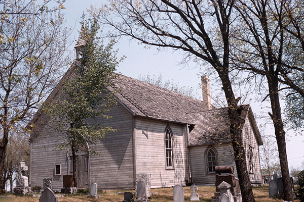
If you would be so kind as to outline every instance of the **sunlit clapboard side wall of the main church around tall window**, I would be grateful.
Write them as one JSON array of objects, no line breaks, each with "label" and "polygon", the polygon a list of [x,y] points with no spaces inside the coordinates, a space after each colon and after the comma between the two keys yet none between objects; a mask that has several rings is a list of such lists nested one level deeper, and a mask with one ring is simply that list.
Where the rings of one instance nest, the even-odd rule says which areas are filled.
[{"label": "sunlit clapboard side wall of the main church around tall window", "polygon": [[[173,170],[166,170],[164,132],[173,133]],[[151,187],[185,185],[188,179],[185,125],[136,117],[136,173],[151,174]]]}]

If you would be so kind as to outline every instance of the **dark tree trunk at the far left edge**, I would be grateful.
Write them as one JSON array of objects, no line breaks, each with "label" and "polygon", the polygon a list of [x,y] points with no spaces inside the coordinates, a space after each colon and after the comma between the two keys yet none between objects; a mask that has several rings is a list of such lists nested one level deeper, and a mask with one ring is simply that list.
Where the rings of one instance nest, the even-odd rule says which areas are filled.
[{"label": "dark tree trunk at the far left edge", "polygon": [[6,159],[6,149],[8,145],[8,136],[9,130],[7,127],[3,127],[3,139],[0,143],[0,187],[1,189],[5,189],[5,179],[4,179],[4,167],[5,167],[5,159]]}]

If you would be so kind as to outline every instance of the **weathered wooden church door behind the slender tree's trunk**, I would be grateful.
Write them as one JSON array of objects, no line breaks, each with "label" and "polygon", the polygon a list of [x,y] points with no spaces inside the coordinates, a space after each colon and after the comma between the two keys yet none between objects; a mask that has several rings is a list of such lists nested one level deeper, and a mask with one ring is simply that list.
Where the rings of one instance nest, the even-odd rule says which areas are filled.
[{"label": "weathered wooden church door behind the slender tree's trunk", "polygon": [[[73,174],[73,161],[70,157],[70,175]],[[87,156],[76,156],[76,180],[77,188],[88,188],[88,158]]]}]

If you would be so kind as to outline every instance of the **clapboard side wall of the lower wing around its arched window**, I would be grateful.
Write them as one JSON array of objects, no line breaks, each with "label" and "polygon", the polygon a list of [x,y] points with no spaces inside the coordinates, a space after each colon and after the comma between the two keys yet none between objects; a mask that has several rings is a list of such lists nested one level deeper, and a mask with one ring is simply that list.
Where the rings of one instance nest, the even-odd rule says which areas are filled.
[{"label": "clapboard side wall of the lower wing around its arched window", "polygon": [[[218,166],[235,166],[233,148],[231,144],[198,145],[189,147],[191,160],[191,176],[194,184],[215,184],[215,173],[208,173],[206,162],[206,149],[212,146],[216,150]],[[237,172],[235,169],[235,176]]]}]

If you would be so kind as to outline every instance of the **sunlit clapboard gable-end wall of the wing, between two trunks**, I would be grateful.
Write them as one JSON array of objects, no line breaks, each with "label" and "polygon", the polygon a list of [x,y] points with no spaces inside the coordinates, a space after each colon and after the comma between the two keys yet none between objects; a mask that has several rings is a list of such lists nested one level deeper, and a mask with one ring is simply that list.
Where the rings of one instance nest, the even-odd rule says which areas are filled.
[{"label": "sunlit clapboard gable-end wall of the wing, between two trunks", "polygon": [[248,171],[249,171],[249,161],[248,161],[249,146],[251,146],[253,153],[253,157],[252,157],[253,172],[249,173],[250,181],[253,184],[260,184],[262,178],[261,178],[261,168],[260,168],[260,159],[259,159],[259,148],[258,148],[257,138],[253,131],[253,126],[250,117],[246,117],[245,126],[243,128],[243,144],[246,153],[246,164]]}]

